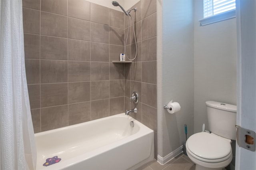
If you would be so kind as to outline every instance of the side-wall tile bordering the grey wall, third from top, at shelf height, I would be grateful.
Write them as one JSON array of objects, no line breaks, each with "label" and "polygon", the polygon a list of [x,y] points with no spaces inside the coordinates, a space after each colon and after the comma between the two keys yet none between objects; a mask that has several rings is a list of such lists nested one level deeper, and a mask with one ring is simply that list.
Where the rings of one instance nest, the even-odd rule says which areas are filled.
[{"label": "side-wall tile bordering the grey wall, third from top, at shelf height", "polygon": [[142,61],[156,60],[156,37],[142,41]]}]

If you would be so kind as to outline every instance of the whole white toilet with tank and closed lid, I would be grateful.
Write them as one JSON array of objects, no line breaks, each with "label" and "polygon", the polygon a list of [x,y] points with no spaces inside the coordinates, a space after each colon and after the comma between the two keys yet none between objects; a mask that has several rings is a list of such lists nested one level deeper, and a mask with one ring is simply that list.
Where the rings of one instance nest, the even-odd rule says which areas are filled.
[{"label": "whole white toilet with tank and closed lid", "polygon": [[196,170],[223,170],[230,164],[231,142],[236,140],[236,106],[206,101],[210,133],[199,132],[186,142],[188,157]]}]

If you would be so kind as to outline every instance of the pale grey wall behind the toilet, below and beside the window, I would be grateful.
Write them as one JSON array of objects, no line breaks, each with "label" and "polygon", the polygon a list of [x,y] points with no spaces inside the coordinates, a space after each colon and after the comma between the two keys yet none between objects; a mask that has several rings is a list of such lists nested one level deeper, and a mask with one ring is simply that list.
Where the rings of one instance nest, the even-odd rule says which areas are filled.
[{"label": "pale grey wall behind the toilet, below and beside the window", "polygon": [[200,26],[203,0],[194,1],[194,132],[208,128],[205,102],[236,105],[236,19]]}]

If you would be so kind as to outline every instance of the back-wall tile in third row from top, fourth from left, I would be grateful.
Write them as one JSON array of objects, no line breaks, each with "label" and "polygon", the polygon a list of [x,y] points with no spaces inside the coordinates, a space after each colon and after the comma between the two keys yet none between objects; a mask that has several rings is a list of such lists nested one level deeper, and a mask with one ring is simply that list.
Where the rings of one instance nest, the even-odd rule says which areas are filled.
[{"label": "back-wall tile in third row from top, fourth from left", "polygon": [[106,43],[91,43],[91,61],[109,61],[109,45]]}]

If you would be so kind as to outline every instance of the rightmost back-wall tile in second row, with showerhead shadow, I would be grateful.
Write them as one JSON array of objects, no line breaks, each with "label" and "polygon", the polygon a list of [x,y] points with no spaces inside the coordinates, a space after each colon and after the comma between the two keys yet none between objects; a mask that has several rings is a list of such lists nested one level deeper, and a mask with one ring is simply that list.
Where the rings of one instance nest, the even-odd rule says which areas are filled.
[{"label": "rightmost back-wall tile in second row, with showerhead shadow", "polygon": [[124,45],[124,30],[121,28],[109,28],[109,43],[115,45]]}]

